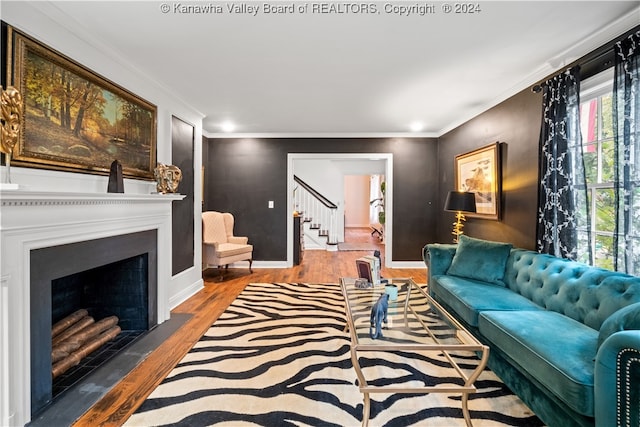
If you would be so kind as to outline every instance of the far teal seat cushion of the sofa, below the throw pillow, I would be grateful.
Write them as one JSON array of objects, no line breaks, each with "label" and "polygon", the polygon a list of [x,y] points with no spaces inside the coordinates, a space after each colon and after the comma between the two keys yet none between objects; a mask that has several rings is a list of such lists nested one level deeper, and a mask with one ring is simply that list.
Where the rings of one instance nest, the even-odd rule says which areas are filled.
[{"label": "far teal seat cushion of the sofa, below the throw pillow", "polygon": [[522,295],[502,286],[455,276],[435,276],[432,282],[429,287],[433,288],[436,298],[471,326],[478,326],[478,314],[483,310],[541,310]]}]

